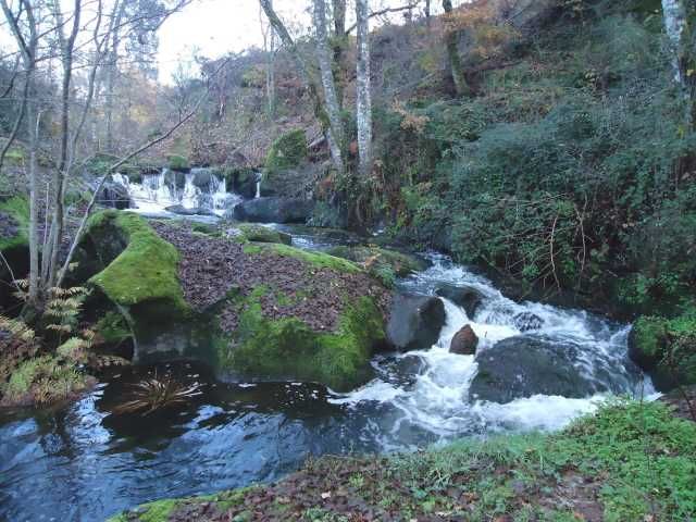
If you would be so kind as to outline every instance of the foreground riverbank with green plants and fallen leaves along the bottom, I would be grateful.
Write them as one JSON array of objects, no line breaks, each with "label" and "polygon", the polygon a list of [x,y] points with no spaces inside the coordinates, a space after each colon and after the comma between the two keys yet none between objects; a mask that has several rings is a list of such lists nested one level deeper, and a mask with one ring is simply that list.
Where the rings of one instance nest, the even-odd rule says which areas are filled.
[{"label": "foreground riverbank with green plants and fallen leaves along the bottom", "polygon": [[558,434],[462,439],[378,458],[324,457],[279,482],[160,500],[132,521],[668,521],[696,514],[696,424],[613,401]]}]

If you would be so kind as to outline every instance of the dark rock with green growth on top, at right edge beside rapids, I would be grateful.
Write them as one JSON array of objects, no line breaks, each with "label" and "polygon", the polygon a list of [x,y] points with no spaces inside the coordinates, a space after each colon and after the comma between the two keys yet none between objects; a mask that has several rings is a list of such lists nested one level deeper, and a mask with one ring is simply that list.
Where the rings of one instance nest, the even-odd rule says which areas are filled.
[{"label": "dark rock with green growth on top, at right edge beside rapids", "polygon": [[696,311],[638,318],[629,334],[629,357],[662,391],[696,384]]}]

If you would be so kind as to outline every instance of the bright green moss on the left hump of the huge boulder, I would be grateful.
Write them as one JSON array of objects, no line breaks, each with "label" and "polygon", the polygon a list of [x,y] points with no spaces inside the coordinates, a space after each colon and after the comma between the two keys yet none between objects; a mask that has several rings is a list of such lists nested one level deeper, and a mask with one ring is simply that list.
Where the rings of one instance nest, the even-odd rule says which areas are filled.
[{"label": "bright green moss on the left hump of the huge boulder", "polygon": [[161,301],[169,303],[171,311],[188,311],[177,275],[176,248],[158,236],[142,217],[129,212],[107,210],[95,214],[87,234],[113,233],[112,227],[123,234],[127,246],[89,282],[120,306]]}]

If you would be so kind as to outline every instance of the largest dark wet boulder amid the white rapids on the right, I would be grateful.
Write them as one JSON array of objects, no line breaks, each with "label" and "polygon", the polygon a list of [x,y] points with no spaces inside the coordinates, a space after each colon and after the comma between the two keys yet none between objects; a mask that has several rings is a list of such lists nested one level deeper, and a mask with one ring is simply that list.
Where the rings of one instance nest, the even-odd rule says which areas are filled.
[{"label": "largest dark wet boulder amid the white rapids on the right", "polygon": [[580,347],[540,337],[515,336],[476,355],[478,373],[469,390],[473,399],[510,402],[533,395],[581,398],[608,386],[583,374]]}]

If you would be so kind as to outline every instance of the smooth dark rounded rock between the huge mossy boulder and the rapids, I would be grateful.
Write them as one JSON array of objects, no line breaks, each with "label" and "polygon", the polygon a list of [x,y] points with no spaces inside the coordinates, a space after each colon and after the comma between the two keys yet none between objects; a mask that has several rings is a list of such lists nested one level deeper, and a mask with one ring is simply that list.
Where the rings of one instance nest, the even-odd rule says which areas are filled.
[{"label": "smooth dark rounded rock between the huge mossy boulder and the rapids", "polygon": [[391,301],[387,338],[400,350],[430,348],[445,325],[445,304],[437,297],[398,295]]}]

